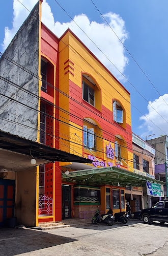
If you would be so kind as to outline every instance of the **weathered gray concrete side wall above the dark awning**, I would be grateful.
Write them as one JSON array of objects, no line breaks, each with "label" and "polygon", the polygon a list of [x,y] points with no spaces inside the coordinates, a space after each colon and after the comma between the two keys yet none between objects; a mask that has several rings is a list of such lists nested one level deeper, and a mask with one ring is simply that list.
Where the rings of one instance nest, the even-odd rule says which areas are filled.
[{"label": "weathered gray concrete side wall above the dark awning", "polygon": [[[38,75],[39,3],[36,4],[20,27],[4,55]],[[20,88],[0,79],[0,93],[2,94],[0,95],[0,129],[36,141],[38,79],[3,56],[0,59],[0,76],[28,90],[28,92],[22,91]],[[30,93],[35,94],[36,97]]]}]

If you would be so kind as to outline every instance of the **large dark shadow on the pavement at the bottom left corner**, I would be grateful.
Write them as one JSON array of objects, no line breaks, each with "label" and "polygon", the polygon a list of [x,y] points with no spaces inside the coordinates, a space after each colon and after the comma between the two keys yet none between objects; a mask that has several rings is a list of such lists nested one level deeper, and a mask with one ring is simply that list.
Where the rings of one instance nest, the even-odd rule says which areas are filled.
[{"label": "large dark shadow on the pavement at the bottom left corner", "polygon": [[13,256],[74,241],[44,231],[0,228],[0,255]]}]

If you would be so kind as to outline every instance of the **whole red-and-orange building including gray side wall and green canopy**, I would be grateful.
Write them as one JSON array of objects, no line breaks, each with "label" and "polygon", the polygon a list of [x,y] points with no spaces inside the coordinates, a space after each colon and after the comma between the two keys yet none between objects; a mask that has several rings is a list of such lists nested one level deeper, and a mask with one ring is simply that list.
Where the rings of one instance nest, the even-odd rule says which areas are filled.
[{"label": "whole red-and-orange building including gray side wall and green canopy", "polygon": [[0,61],[4,131],[64,151],[37,169],[36,225],[124,211],[126,188],[162,184],[133,169],[130,94],[70,29],[58,38],[41,23],[41,2]]}]

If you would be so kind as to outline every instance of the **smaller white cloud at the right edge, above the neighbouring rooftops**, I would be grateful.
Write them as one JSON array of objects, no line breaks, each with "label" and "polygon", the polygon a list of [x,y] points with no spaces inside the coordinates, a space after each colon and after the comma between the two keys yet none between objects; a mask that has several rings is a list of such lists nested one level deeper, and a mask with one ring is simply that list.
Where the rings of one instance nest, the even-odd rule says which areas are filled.
[{"label": "smaller white cloud at the right edge, above the neighbouring rooftops", "polygon": [[[150,134],[155,134],[153,137],[160,137],[161,134],[168,134],[168,106],[165,102],[168,104],[168,94],[164,94],[162,97],[160,96],[152,102],[149,101],[148,114],[140,117],[140,120],[144,121],[143,125],[141,125],[141,127],[139,126],[140,129],[144,129],[141,137],[145,138],[145,136]],[[164,121],[162,117],[166,121]],[[165,133],[163,133],[155,124]]]}]

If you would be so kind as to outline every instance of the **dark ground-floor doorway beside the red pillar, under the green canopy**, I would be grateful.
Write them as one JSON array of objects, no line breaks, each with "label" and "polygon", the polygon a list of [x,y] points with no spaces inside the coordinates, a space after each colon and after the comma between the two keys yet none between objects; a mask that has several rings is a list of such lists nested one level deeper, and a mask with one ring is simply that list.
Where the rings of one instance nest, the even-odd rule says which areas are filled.
[{"label": "dark ground-floor doorway beside the red pillar, under the green canopy", "polygon": [[62,220],[71,218],[71,186],[62,184]]}]

